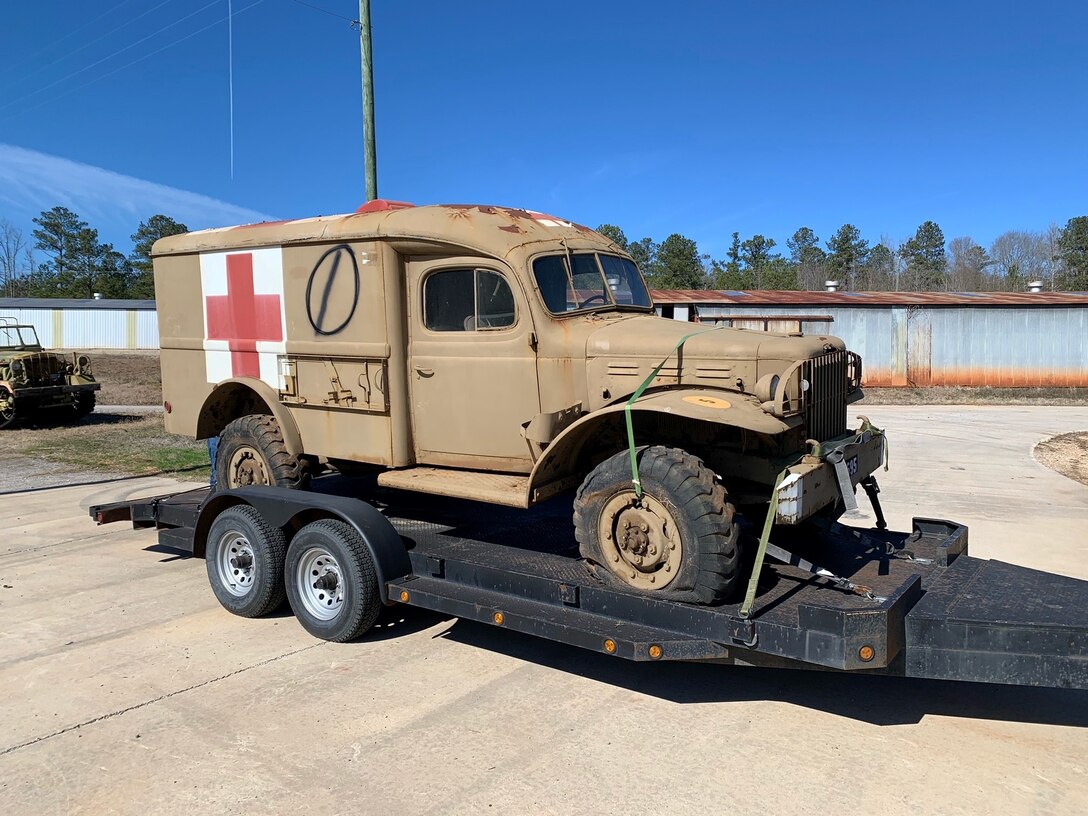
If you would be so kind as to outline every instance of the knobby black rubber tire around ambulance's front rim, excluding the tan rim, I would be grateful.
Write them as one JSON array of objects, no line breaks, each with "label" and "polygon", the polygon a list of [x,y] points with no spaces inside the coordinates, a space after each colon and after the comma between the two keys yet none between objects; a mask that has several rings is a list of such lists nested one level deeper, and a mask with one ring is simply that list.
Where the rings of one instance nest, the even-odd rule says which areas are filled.
[{"label": "knobby black rubber tire around ambulance's front rim, excluding the tan rim", "polygon": [[[725,486],[703,461],[679,448],[655,445],[636,450],[644,495],[662,503],[680,535],[680,566],[666,586],[648,590],[657,597],[697,604],[727,601],[740,583],[740,528]],[[574,498],[574,537],[583,558],[627,590],[609,566],[598,540],[602,514],[616,496],[632,493],[627,450],[594,468]],[[647,591],[647,590],[642,590]]]}]

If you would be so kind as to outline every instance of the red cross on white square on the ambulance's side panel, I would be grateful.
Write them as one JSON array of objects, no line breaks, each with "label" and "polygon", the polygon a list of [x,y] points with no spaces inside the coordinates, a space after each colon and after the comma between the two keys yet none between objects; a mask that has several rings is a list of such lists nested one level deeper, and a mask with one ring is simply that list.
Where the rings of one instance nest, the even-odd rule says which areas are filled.
[{"label": "red cross on white square on the ambulance's side panel", "polygon": [[233,376],[261,375],[257,341],[283,342],[280,296],[254,293],[254,256],[226,256],[226,295],[209,295],[208,339],[225,339]]}]

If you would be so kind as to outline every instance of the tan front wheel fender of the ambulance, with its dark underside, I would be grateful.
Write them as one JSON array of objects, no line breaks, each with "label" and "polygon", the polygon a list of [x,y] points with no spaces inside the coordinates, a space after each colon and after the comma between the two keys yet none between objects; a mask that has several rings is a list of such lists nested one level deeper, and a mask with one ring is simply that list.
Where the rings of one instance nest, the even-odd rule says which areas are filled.
[{"label": "tan front wheel fender of the ambulance, with its dark underside", "polygon": [[[610,405],[582,417],[548,445],[533,467],[529,478],[529,499],[537,502],[580,480],[582,453],[588,443],[608,432],[621,432],[626,438],[625,403]],[[767,413],[750,396],[714,388],[667,388],[648,392],[632,406],[632,413],[658,412],[680,421],[729,425],[755,433],[775,435],[790,430],[783,420]],[[639,440],[639,444],[660,443],[662,440]],[[615,452],[614,452],[615,453]]]}]

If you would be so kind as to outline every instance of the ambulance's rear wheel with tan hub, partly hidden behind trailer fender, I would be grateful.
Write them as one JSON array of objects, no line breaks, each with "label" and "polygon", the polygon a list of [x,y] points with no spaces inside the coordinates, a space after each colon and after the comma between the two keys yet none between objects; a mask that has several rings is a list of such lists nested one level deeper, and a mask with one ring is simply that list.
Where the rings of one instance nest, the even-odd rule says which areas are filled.
[{"label": "ambulance's rear wheel with tan hub, partly hidden behind trailer fender", "polygon": [[215,483],[222,487],[271,484],[306,490],[309,465],[292,455],[275,417],[251,413],[228,423],[219,436]]}]

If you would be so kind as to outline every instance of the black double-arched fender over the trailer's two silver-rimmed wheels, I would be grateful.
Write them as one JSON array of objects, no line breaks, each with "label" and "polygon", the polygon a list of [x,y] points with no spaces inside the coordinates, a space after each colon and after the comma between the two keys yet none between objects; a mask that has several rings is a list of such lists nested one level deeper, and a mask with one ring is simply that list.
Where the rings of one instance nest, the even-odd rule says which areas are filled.
[{"label": "black double-arched fender over the trailer's two silver-rimmed wheels", "polygon": [[318,519],[339,519],[354,527],[378,570],[378,586],[382,603],[388,603],[386,582],[404,578],[411,572],[408,549],[400,535],[381,512],[366,502],[349,496],[330,496],[302,493],[284,487],[250,486],[219,491],[201,505],[193,537],[193,555],[202,558],[208,545],[208,531],[212,522],[227,507],[249,505],[273,527],[287,535],[287,540],[305,524]]}]

